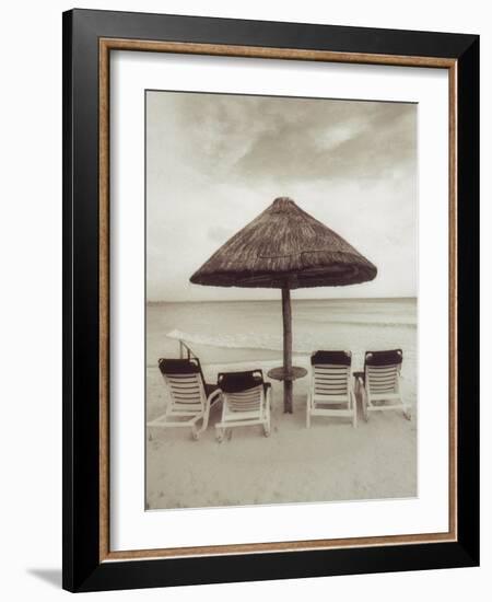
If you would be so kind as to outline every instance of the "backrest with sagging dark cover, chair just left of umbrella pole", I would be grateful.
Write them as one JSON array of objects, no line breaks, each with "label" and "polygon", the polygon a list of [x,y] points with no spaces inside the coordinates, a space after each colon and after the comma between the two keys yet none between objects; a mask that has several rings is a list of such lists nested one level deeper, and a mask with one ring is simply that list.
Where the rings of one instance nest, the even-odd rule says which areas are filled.
[{"label": "backrest with sagging dark cover, chair just left of umbrella pole", "polygon": [[263,400],[263,373],[261,370],[246,372],[221,372],[218,381],[224,401],[231,412],[255,412]]}]

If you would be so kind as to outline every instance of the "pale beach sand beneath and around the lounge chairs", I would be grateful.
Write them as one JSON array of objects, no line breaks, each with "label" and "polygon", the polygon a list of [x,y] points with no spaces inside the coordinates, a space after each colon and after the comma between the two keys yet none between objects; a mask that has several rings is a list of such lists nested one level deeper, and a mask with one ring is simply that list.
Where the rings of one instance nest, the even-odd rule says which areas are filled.
[{"label": "pale beach sand beneath and around the lounge chairs", "polygon": [[[305,358],[296,358],[305,366]],[[257,366],[250,366],[255,368]],[[261,363],[266,373],[267,362]],[[208,382],[223,369],[203,367]],[[152,429],[147,444],[147,507],[197,508],[403,498],[417,495],[417,413],[377,412],[365,422],[358,400],[359,426],[348,419],[315,417],[305,426],[309,377],[294,383],[294,413],[283,414],[282,384],[272,382],[272,432],[259,426],[232,429],[215,440],[215,406],[209,428],[194,441],[187,428]],[[415,379],[406,381],[413,404]],[[166,392],[156,368],[148,368],[148,420],[165,412]],[[411,390],[410,390],[411,389]],[[219,404],[220,405],[220,404]]]}]

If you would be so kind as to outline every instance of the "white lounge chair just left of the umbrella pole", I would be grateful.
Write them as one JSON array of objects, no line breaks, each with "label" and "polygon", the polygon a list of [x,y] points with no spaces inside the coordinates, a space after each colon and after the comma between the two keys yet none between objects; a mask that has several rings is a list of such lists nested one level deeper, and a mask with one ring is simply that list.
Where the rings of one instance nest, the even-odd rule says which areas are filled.
[{"label": "white lounge chair just left of the umbrella pole", "polygon": [[218,377],[223,405],[221,421],[215,425],[216,439],[222,441],[225,429],[262,425],[270,435],[271,385],[263,381],[261,370],[224,372]]}]

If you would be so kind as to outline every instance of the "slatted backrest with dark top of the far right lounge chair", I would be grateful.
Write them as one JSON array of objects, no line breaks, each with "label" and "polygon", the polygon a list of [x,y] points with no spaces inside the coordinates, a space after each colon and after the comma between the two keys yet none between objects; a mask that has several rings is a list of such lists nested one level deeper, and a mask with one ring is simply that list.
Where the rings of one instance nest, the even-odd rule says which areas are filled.
[{"label": "slatted backrest with dark top of the far right lounge chair", "polygon": [[364,372],[367,391],[375,395],[396,392],[402,361],[401,349],[366,351]]}]

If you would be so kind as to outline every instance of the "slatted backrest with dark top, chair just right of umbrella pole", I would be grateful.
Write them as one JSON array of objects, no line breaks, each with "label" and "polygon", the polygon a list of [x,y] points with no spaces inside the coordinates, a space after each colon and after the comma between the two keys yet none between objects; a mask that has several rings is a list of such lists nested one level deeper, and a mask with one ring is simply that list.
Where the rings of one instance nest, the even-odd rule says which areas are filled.
[{"label": "slatted backrest with dark top, chair just right of umbrella pole", "polygon": [[347,395],[350,386],[352,354],[316,351],[311,356],[315,396]]}]

